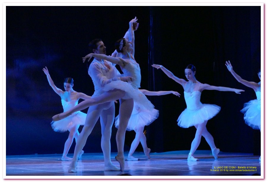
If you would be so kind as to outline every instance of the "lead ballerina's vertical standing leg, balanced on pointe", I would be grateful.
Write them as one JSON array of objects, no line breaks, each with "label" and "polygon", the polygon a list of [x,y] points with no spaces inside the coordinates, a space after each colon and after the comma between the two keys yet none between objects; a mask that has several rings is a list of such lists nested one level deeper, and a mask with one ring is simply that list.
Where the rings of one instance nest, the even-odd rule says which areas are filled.
[{"label": "lead ballerina's vertical standing leg, balanced on pointe", "polygon": [[115,159],[120,163],[121,171],[124,171],[124,165],[125,165],[124,153],[123,153],[125,132],[133,111],[133,107],[134,107],[133,99],[127,99],[127,100],[120,99],[120,111],[119,111],[120,124],[116,134],[118,154],[115,157]]}]

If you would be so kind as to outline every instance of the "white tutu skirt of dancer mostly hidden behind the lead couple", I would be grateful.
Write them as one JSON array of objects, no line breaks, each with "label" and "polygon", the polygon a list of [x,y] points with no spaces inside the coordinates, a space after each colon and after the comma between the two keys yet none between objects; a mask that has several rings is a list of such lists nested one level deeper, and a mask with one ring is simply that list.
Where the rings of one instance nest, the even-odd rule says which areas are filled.
[{"label": "white tutu skirt of dancer mostly hidden behind the lead couple", "polygon": [[[139,105],[134,102],[134,109],[129,119],[126,130],[136,130],[139,127],[150,125],[155,119],[158,118],[159,111],[156,109],[146,110],[141,109]],[[117,115],[115,118],[115,127],[118,128],[120,124],[120,117]]]}]

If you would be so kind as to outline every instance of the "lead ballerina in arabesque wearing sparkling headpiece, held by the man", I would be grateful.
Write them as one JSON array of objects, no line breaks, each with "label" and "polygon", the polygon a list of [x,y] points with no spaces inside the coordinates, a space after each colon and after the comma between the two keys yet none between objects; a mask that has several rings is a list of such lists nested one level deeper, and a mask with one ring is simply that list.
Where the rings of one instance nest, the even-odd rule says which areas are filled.
[{"label": "lead ballerina in arabesque wearing sparkling headpiece, held by the man", "polygon": [[[83,58],[83,62],[85,62],[86,58],[88,58],[89,61],[91,57],[95,57],[120,65],[121,69],[125,73],[124,76],[128,76],[129,78],[128,82],[130,82],[131,84],[123,82],[121,80],[111,81],[110,83],[103,86],[102,89],[105,92],[100,96],[96,96],[94,98],[82,101],[71,110],[53,116],[53,121],[58,121],[62,118],[69,116],[73,112],[83,110],[89,106],[98,105],[101,103],[120,99],[119,115],[121,121],[123,122],[120,122],[116,134],[118,154],[115,157],[115,159],[120,163],[121,171],[124,171],[124,165],[125,165],[124,153],[123,153],[125,132],[129,118],[133,110],[134,101],[140,104],[140,107],[142,109],[152,110],[154,108],[154,105],[152,105],[152,103],[147,99],[147,97],[144,94],[142,94],[142,92],[140,92],[138,89],[140,87],[140,82],[141,82],[141,73],[139,64],[137,64],[136,61],[134,60],[133,23],[135,23],[136,21],[137,19],[134,18],[129,22],[130,28],[128,36],[132,42],[128,41],[128,39],[123,38],[119,39],[115,43],[117,52],[122,53],[121,57],[112,57],[112,56],[107,56],[105,54],[90,53]],[[71,162],[70,170],[75,171],[76,165],[77,161],[73,163]]]}]

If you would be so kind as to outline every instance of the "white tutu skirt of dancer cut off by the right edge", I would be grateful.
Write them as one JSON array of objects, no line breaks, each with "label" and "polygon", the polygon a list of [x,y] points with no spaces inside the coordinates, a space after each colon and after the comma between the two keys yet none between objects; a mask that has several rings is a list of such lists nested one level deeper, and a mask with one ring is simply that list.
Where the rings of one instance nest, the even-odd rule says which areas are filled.
[{"label": "white tutu skirt of dancer cut off by the right edge", "polygon": [[260,129],[260,100],[251,100],[244,104],[241,110],[244,113],[244,120],[253,129]]}]

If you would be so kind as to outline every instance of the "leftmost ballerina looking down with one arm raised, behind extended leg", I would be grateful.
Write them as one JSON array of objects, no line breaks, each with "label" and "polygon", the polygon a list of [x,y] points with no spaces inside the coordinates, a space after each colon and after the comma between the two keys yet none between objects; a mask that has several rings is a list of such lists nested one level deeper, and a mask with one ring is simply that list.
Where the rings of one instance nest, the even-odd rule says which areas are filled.
[{"label": "leftmost ballerina looking down with one arm raised, behind extended leg", "polygon": [[[53,88],[55,93],[57,93],[61,97],[61,103],[63,106],[63,110],[67,111],[78,104],[79,99],[89,99],[91,96],[88,96],[86,94],[83,94],[81,92],[76,92],[73,90],[73,79],[72,78],[66,78],[64,81],[64,88],[65,91],[62,91],[61,89],[57,88],[50,77],[50,74],[48,72],[47,67],[43,68],[43,71],[45,72],[45,75],[47,76],[47,80],[49,85]],[[86,114],[82,113],[80,111],[72,114],[69,117],[66,117],[65,119],[62,119],[59,122],[51,122],[51,126],[54,129],[55,132],[66,132],[69,131],[69,137],[65,142],[64,145],[64,151],[63,155],[61,157],[62,161],[71,161],[70,157],[67,157],[67,154],[69,152],[69,149],[71,147],[71,144],[73,142],[73,138],[77,141],[77,138],[79,136],[78,128],[80,125],[84,125],[85,123]],[[82,154],[84,151],[81,151],[79,153],[78,158],[82,158]]]}]

